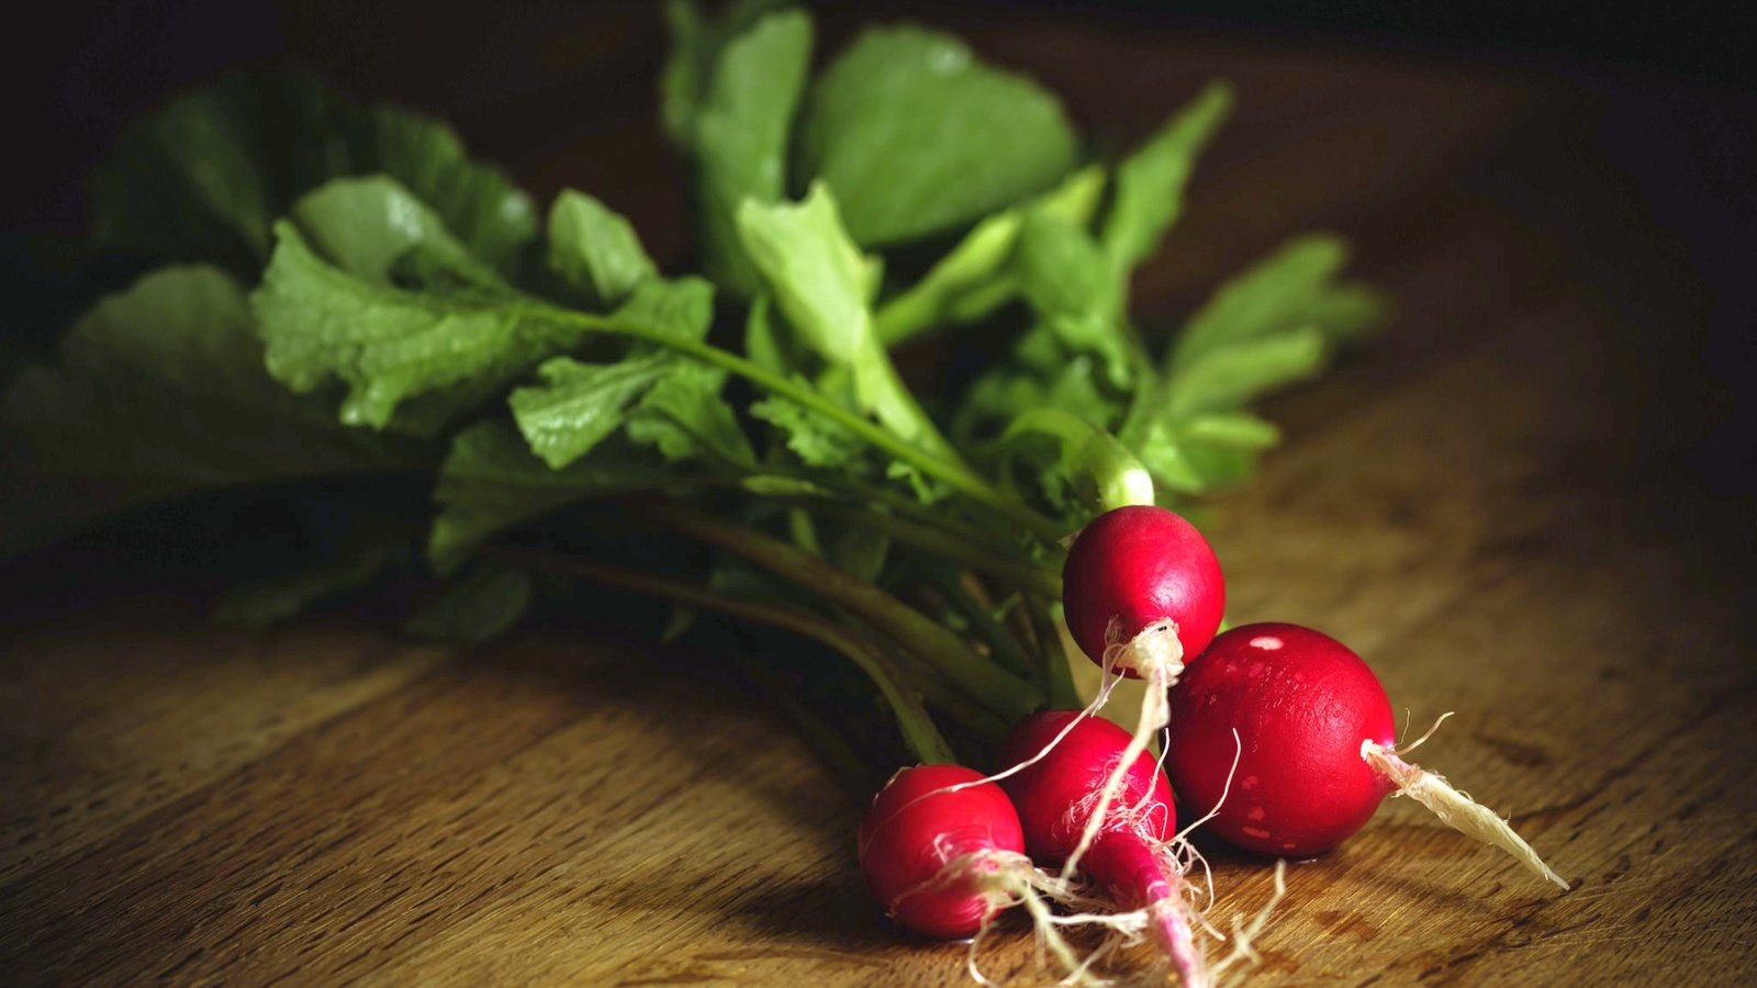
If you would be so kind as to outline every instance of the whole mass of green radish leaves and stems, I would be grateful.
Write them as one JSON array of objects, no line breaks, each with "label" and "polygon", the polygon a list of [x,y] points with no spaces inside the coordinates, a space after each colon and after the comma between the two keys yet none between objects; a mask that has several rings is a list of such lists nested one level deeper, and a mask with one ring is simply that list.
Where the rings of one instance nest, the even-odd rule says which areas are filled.
[{"label": "whole mass of green radish leaves and stems", "polygon": [[[568,540],[589,501],[629,498],[741,563],[713,559],[705,585],[590,575],[829,643],[936,756],[921,698],[982,735],[1061,691],[1031,659],[1054,649],[1059,536],[1246,476],[1277,440],[1249,404],[1388,311],[1318,234],[1170,339],[1133,323],[1132,271],[1182,213],[1223,84],[1114,167],[1081,167],[1051,93],[947,35],[873,28],[813,79],[812,21],[785,4],[668,16],[661,116],[694,169],[698,272],[661,271],[580,192],[539,229],[446,127],[306,77],[241,76],[134,125],[93,176],[97,239],[167,267],[97,302],[0,403],[28,489],[109,485],[97,505],[39,498],[44,526],[204,487],[423,476],[430,506],[337,505],[327,557],[223,610],[283,617],[409,564],[425,534],[425,564],[457,580],[409,628],[476,642],[536,594],[506,545]],[[893,348],[972,323],[1010,350],[919,397]],[[615,556],[615,533],[592,534]],[[961,571],[1000,592],[979,601]]]}]

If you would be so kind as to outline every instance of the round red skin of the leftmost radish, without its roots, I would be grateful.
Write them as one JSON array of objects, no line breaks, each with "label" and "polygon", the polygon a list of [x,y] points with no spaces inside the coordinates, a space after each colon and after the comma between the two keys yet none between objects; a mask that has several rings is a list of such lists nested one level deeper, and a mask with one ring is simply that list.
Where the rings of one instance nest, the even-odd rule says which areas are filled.
[{"label": "round red skin of the leftmost radish, without its roots", "polygon": [[[989,914],[989,902],[970,884],[933,881],[947,861],[977,851],[1024,854],[1024,833],[1012,800],[993,782],[926,796],[947,786],[982,782],[961,765],[917,765],[891,777],[861,819],[859,856],[866,886],[891,918],[936,939],[972,937]],[[922,798],[926,796],[926,798]]]}]

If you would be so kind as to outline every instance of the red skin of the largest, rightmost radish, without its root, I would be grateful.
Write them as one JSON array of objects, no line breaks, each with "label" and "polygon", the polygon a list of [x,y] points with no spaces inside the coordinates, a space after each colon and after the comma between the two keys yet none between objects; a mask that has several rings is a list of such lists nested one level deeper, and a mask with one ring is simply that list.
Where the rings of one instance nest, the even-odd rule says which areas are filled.
[{"label": "red skin of the largest, rightmost radish, without its root", "polygon": [[[1270,647],[1279,642],[1279,647]],[[1309,858],[1365,826],[1392,784],[1360,744],[1395,744],[1392,701],[1367,663],[1298,624],[1244,624],[1214,638],[1172,687],[1172,775],[1184,810],[1205,814],[1239,768],[1219,814],[1204,826],[1262,854]]]}]

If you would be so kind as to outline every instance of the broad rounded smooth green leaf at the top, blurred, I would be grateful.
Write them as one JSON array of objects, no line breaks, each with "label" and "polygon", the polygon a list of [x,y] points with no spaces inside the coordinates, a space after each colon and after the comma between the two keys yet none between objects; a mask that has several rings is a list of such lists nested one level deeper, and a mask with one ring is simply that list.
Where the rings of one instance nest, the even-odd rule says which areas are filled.
[{"label": "broad rounded smooth green leaf at the top, blurred", "polygon": [[979,62],[954,37],[873,28],[817,81],[799,125],[801,176],[822,178],[849,232],[882,246],[972,223],[1075,163],[1061,104]]}]

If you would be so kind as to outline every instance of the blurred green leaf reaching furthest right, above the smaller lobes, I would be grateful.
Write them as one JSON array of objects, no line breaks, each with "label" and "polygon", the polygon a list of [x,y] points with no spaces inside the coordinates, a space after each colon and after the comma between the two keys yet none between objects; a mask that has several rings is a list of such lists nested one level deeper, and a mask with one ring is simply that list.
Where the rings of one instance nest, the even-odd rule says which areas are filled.
[{"label": "blurred green leaf reaching furthest right, above the smaller lobes", "polygon": [[1351,338],[1388,315],[1388,302],[1362,287],[1335,285],[1348,244],[1335,236],[1295,237],[1221,285],[1167,353],[1177,371],[1212,350],[1288,329],[1318,327],[1327,338]]}]

